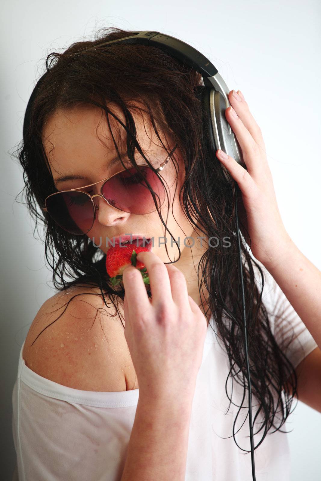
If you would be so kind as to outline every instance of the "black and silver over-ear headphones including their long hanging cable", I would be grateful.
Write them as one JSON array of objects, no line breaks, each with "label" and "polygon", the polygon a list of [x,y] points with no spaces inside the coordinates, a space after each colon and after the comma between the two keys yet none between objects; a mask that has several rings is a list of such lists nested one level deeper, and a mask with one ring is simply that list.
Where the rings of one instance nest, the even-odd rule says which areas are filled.
[{"label": "black and silver over-ear headphones including their long hanging cable", "polygon": [[[103,45],[116,45],[116,44],[131,44],[131,45],[147,45],[151,47],[157,47],[161,50],[166,51],[169,55],[176,58],[182,63],[187,64],[197,72],[199,72],[204,80],[204,85],[198,85],[196,87],[196,95],[202,102],[203,112],[205,112],[205,117],[203,117],[204,129],[207,130],[209,134],[210,141],[210,152],[213,153],[215,158],[215,152],[220,149],[226,152],[228,155],[233,157],[235,161],[243,165],[246,168],[242,150],[239,146],[237,139],[231,129],[230,124],[225,118],[225,109],[230,107],[230,101],[228,94],[230,90],[228,89],[223,78],[219,75],[217,68],[211,63],[201,52],[194,49],[191,45],[183,42],[182,40],[171,37],[170,35],[165,35],[160,32],[152,31],[138,31],[134,32],[134,35],[119,38],[117,40],[111,40],[101,44]],[[27,103],[26,114],[24,118],[23,135],[26,136],[26,129],[30,123],[30,111],[32,103],[37,95],[38,89],[44,79],[48,74],[45,72],[43,76],[40,77],[37,82],[30,99]],[[223,169],[224,176],[226,180],[230,183],[235,182],[232,179],[230,173],[226,170],[225,166],[221,165]],[[238,184],[235,182],[236,188]],[[248,381],[248,400],[249,400],[249,431],[250,431],[250,444],[251,444],[251,461],[252,461],[252,479],[256,480],[255,477],[255,466],[254,466],[254,443],[253,443],[253,423],[252,423],[252,391],[251,391],[251,380],[250,380],[250,368],[247,353],[247,332],[246,332],[246,314],[245,314],[245,296],[244,296],[244,281],[243,281],[243,268],[242,268],[242,251],[241,251],[241,241],[240,232],[238,224],[238,211],[237,211],[237,196],[235,196],[235,211],[236,211],[236,235],[238,241],[239,250],[239,275],[240,284],[242,291],[242,311],[243,311],[243,322],[244,322],[244,350],[247,368],[247,381]]]}]

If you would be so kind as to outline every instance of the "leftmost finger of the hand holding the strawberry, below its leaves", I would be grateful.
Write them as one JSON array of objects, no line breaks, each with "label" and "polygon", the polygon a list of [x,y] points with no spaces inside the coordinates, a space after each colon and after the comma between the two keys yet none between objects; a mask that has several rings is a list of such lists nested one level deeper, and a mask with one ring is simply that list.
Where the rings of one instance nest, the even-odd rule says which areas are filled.
[{"label": "leftmost finger of the hand holding the strawberry, below its leaves", "polygon": [[141,311],[149,308],[148,295],[141,272],[134,266],[128,266],[123,271],[125,289],[124,311],[130,307],[133,316],[139,316]]}]

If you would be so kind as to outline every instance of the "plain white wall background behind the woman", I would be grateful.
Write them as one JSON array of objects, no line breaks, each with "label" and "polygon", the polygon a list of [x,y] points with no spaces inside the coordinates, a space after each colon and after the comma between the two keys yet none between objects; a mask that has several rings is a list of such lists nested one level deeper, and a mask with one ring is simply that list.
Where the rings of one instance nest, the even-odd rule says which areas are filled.
[{"label": "plain white wall background behind the woman", "polygon": [[[320,2],[312,0],[2,3],[2,479],[11,479],[15,462],[11,396],[20,348],[39,307],[54,294],[43,244],[33,237],[26,206],[15,201],[24,183],[10,155],[22,139],[26,104],[46,55],[93,38],[103,26],[160,31],[205,54],[229,89],[243,92],[264,135],[285,227],[321,269],[320,13]],[[288,426],[291,480],[319,479],[321,415],[299,403]]]}]

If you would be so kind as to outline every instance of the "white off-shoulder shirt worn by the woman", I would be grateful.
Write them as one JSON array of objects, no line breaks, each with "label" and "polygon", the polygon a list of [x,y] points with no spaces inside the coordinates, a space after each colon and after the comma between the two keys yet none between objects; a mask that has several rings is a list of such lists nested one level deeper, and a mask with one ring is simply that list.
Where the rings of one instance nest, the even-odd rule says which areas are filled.
[{"label": "white off-shoulder shirt worn by the woman", "polygon": [[[296,367],[317,344],[275,280],[261,267],[265,277],[262,298],[271,314],[272,332],[282,345],[293,337],[286,354]],[[259,275],[257,282],[260,286]],[[139,389],[91,392],[63,386],[27,367],[22,358],[23,347],[24,344],[12,396],[12,428],[17,454],[14,479],[120,480]],[[225,382],[229,370],[228,357],[218,341],[212,316],[193,397],[185,481],[252,479],[251,454],[239,449],[232,437],[238,407],[231,405],[227,412],[229,400]],[[227,389],[231,394],[231,382]],[[242,387],[233,382],[233,402],[240,405],[242,397]],[[253,418],[256,403],[252,396]],[[236,441],[241,448],[249,450],[248,418],[245,419],[247,392],[244,406],[235,427],[237,431],[244,422],[236,434]],[[286,423],[282,430],[287,430]],[[255,444],[261,435],[262,431],[254,436]],[[257,481],[290,480],[286,433],[276,431],[266,436],[255,450],[255,467]]]}]

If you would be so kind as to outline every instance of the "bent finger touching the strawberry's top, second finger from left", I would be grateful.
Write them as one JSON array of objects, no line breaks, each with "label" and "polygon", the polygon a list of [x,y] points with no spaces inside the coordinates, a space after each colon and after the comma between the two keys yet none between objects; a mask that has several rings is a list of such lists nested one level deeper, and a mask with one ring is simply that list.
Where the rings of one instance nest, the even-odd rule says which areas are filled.
[{"label": "bent finger touching the strawberry's top, second finger from left", "polygon": [[136,259],[146,266],[152,292],[152,304],[163,302],[164,299],[170,302],[172,290],[164,262],[152,251],[142,251],[137,254]]}]

